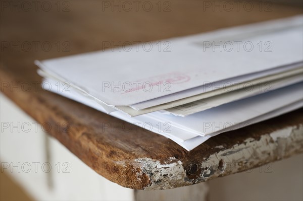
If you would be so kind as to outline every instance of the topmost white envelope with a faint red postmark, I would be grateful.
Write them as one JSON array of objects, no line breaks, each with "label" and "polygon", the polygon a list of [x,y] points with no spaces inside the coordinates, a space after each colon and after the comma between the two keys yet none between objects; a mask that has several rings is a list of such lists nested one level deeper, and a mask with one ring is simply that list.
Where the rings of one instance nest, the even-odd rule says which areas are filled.
[{"label": "topmost white envelope with a faint red postmark", "polygon": [[[107,105],[134,105],[205,83],[301,62],[301,19],[298,16],[163,40],[160,44],[169,45],[167,52],[159,51],[159,42],[150,43],[153,46],[150,51],[141,43],[129,52],[109,49],[36,64],[47,74],[69,82]],[[206,41],[242,41],[254,48],[213,51],[212,47],[206,48]],[[270,51],[260,51],[258,44],[263,43]]]}]

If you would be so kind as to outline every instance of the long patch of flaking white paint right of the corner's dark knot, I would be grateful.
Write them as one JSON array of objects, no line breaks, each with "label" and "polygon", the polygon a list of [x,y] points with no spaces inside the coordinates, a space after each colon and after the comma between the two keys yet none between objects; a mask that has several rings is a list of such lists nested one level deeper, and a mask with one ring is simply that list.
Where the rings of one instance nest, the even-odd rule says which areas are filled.
[{"label": "long patch of flaking white paint right of the corner's dark knot", "polygon": [[[302,130],[302,125],[299,127],[287,127],[268,135],[263,135],[259,140],[248,138],[244,141],[245,143],[236,144],[230,149],[219,151],[201,164],[203,169],[199,178],[192,182],[206,181],[218,176],[248,170],[259,166],[260,162],[266,163],[277,158],[283,158],[287,154],[291,154],[291,151],[295,149],[302,149],[301,146],[289,146],[293,142],[303,140]],[[277,143],[279,138],[285,138],[285,142]],[[271,139],[275,143],[270,143],[272,142]],[[289,150],[286,150],[287,147]]]}]

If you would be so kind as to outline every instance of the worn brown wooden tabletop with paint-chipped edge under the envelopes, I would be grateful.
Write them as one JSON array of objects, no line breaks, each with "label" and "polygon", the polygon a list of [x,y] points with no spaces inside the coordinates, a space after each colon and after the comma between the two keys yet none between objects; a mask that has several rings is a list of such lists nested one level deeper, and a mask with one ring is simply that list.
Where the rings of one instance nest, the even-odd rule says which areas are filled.
[{"label": "worn brown wooden tabletop with paint-chipped edge under the envelopes", "polygon": [[[300,7],[274,3],[271,11],[265,12],[260,11],[256,1],[256,9],[250,12],[241,7],[239,11],[214,12],[204,9],[203,1],[171,1],[170,11],[163,12],[162,8],[159,12],[151,1],[157,9],[150,12],[143,9],[126,12],[123,8],[121,12],[113,12],[102,7],[102,1],[69,3],[67,12],[62,12],[66,5],[58,12],[54,2],[48,12],[40,7],[32,12],[2,8],[1,90],[39,122],[51,123],[49,134],[100,175],[129,188],[174,188],[302,152],[302,110],[223,133],[187,152],[153,132],[43,91],[39,86],[36,90],[36,82],[39,85],[41,79],[33,64],[35,59],[99,50],[103,41],[118,44],[195,34],[301,14]],[[6,47],[18,42],[20,45],[38,42],[38,46],[30,50],[25,46],[20,50]],[[43,42],[52,44],[52,48],[45,51],[39,45]],[[32,85],[31,90],[25,88],[25,83]],[[19,88],[12,87],[15,85]],[[133,131],[113,130],[114,126],[104,128],[104,122],[127,125]]]}]

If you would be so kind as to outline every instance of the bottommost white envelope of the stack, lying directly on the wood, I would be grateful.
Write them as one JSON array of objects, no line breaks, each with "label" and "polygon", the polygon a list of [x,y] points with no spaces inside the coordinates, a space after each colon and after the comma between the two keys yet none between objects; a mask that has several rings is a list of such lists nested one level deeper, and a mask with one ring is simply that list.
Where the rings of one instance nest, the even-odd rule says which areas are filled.
[{"label": "bottommost white envelope of the stack, lying directly on the wood", "polygon": [[[58,81],[55,81],[55,80],[52,80],[52,79],[45,79],[45,82],[48,82],[48,83],[52,84],[53,86],[56,86],[56,87],[51,88],[51,91],[54,92],[54,93],[58,93],[58,94],[63,95],[67,98],[70,98],[72,100],[81,102],[81,103],[83,103],[87,106],[90,106],[90,107],[92,107],[96,110],[106,112],[104,107],[102,107],[100,104],[97,104],[95,101],[93,101],[89,97],[83,96],[81,93],[78,93],[77,91],[74,91],[73,88],[71,88],[69,90],[69,92],[64,93],[62,91],[56,90],[57,86],[58,86]],[[55,85],[55,84],[57,84],[57,85]],[[63,83],[61,83],[61,87],[64,87]],[[281,96],[283,96],[283,94],[281,94]],[[303,101],[302,100],[296,101],[296,102],[290,103],[290,104],[285,103],[285,106],[283,106],[281,108],[270,111],[266,114],[262,114],[260,116],[255,117],[255,118],[250,118],[249,119],[249,117],[247,117],[247,120],[245,120],[245,121],[243,121],[239,124],[234,124],[232,127],[226,127],[223,130],[213,132],[210,135],[207,135],[205,137],[196,135],[195,133],[192,133],[188,130],[184,130],[184,129],[181,129],[179,127],[175,127],[172,124],[168,127],[167,124],[165,125],[165,123],[168,122],[168,121],[162,122],[161,120],[159,120],[157,118],[155,119],[154,117],[150,117],[148,115],[141,115],[138,118],[138,117],[129,117],[128,115],[126,115],[126,114],[124,114],[120,111],[114,111],[114,112],[111,112],[110,114],[117,117],[117,118],[123,119],[127,122],[135,123],[136,125],[141,126],[141,127],[144,127],[143,125],[146,122],[148,122],[147,126],[149,125],[149,123],[151,123],[152,127],[151,127],[150,131],[156,132],[156,133],[158,133],[158,134],[160,134],[160,135],[162,135],[166,138],[169,138],[169,139],[173,140],[174,142],[176,142],[181,147],[183,147],[184,149],[186,149],[187,151],[190,151],[190,150],[194,149],[195,147],[197,147],[198,145],[207,141],[209,138],[211,138],[213,136],[216,136],[216,135],[219,135],[220,133],[222,133],[224,131],[229,131],[229,130],[232,130],[232,129],[238,129],[238,128],[241,128],[245,125],[250,125],[250,124],[253,124],[253,123],[257,123],[257,122],[260,122],[260,121],[263,121],[263,120],[281,115],[283,113],[292,111],[294,109],[300,108],[302,106],[303,106]],[[231,108],[231,110],[232,109],[233,108]],[[241,108],[239,108],[239,109],[241,109]],[[159,129],[159,123],[161,123],[162,129],[166,129],[166,131],[164,131],[162,129]],[[149,127],[146,127],[146,126],[144,128],[149,129]]]}]

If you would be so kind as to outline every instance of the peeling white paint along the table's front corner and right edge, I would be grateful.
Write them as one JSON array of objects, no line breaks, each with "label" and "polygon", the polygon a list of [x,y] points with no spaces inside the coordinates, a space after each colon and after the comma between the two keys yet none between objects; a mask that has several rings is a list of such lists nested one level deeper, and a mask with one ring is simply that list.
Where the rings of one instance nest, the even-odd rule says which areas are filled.
[{"label": "peeling white paint along the table's front corner and right edge", "polygon": [[[150,158],[135,159],[140,172],[137,178],[147,175],[149,186],[145,190],[167,189],[191,185],[203,181],[229,175],[239,171],[249,170],[270,161],[291,156],[302,151],[303,125],[287,127],[260,137],[247,138],[243,143],[236,144],[229,149],[223,146],[219,152],[205,158],[198,164],[198,174],[187,176],[180,160],[170,157],[164,164]],[[201,153],[203,154],[203,153]]]}]

